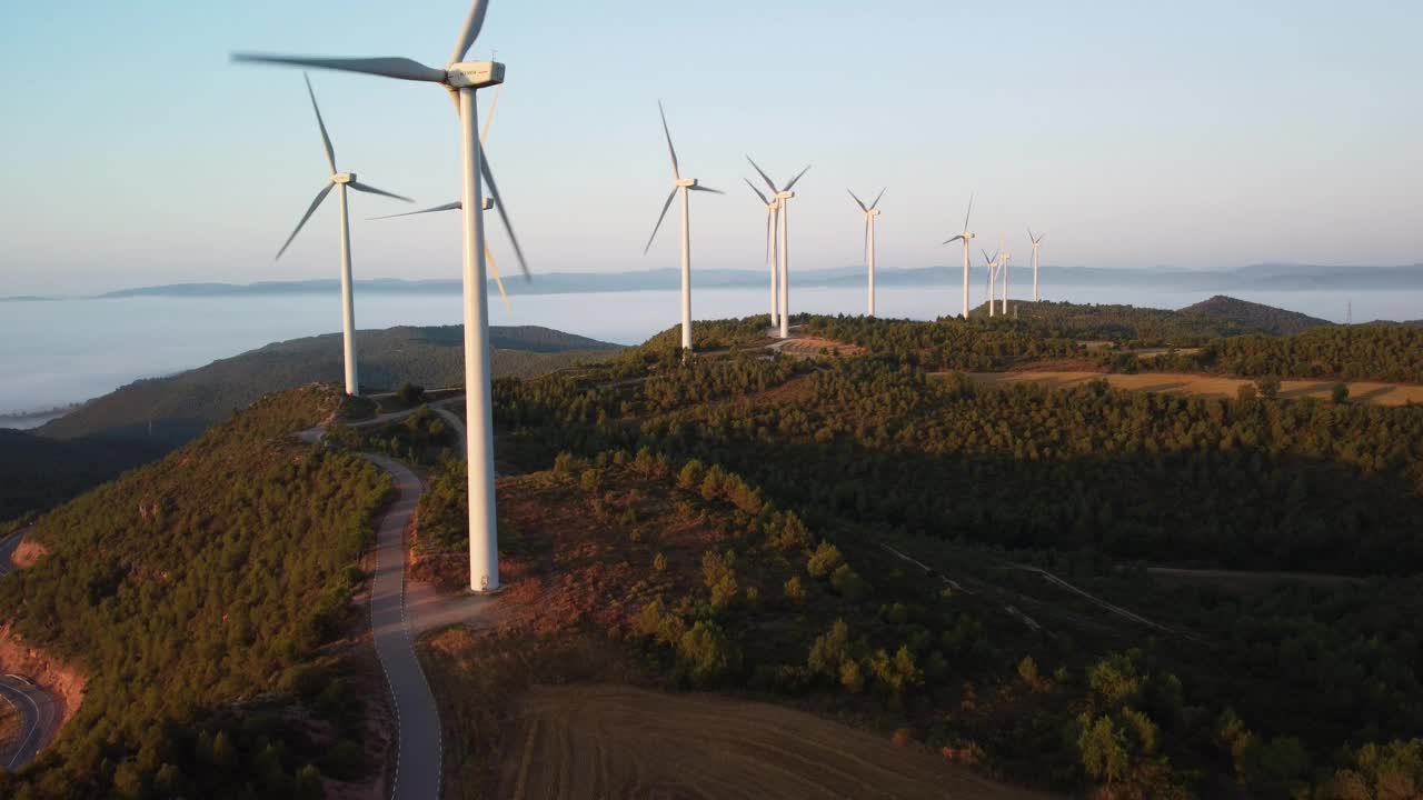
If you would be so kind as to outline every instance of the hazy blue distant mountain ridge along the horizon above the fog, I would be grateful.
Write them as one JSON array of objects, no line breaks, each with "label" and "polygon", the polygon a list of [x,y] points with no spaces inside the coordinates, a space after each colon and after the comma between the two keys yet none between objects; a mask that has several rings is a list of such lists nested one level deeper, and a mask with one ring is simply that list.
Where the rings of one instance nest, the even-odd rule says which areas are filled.
[{"label": "hazy blue distant mountain ridge along the horizon above the fog", "polygon": [[[875,280],[881,286],[932,286],[955,282],[962,275],[958,265],[894,269],[881,266]],[[1012,268],[1026,276],[1027,266]],[[676,269],[646,269],[630,272],[548,272],[534,280],[508,280],[509,295],[562,295],[596,292],[655,292],[680,286]],[[693,285],[699,289],[761,288],[766,272],[760,269],[697,269]],[[1308,289],[1420,289],[1423,263],[1405,266],[1318,266],[1296,263],[1258,263],[1232,269],[1185,269],[1171,266],[1109,269],[1097,266],[1042,268],[1042,280],[1062,286],[1141,286],[1157,289],[1229,293],[1234,290],[1308,290]],[[798,286],[848,286],[864,282],[862,266],[797,270]],[[139,286],[98,295],[100,299],[118,298],[221,298],[266,296],[292,293],[333,293],[336,280],[262,280],[256,283],[171,283]],[[357,292],[407,295],[460,295],[458,279],[400,279],[376,278],[356,282]],[[490,290],[497,286],[490,282]],[[11,302],[54,298],[3,298]]]}]

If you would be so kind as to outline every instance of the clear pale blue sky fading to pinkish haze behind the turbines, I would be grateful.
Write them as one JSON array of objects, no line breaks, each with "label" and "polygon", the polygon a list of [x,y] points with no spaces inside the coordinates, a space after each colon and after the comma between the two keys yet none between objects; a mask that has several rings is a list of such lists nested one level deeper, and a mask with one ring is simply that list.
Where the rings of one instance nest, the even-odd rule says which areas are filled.
[{"label": "clear pale blue sky fading to pinkish haze behind the turbines", "polygon": [[[11,4],[0,24],[0,296],[337,276],[297,70],[229,53],[406,56],[443,65],[465,0]],[[1414,263],[1423,219],[1423,3],[1413,0],[491,0],[475,58],[507,83],[488,152],[535,272],[677,263],[643,245],[670,164],[693,195],[693,269],[764,263],[750,154],[805,164],[795,268],[862,263],[861,196],[888,186],[882,268]],[[312,73],[342,169],[423,205],[458,196],[438,87]],[[488,107],[491,93],[481,93]],[[455,215],[353,194],[357,278],[457,278]],[[492,222],[492,219],[491,219]],[[491,225],[501,265],[512,265]]]}]

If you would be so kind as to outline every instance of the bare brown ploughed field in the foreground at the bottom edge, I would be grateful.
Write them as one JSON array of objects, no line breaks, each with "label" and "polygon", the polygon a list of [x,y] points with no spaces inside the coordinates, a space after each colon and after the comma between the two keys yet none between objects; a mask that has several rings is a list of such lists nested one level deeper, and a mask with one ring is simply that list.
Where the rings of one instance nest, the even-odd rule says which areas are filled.
[{"label": "bare brown ploughed field in the foreground at the bottom edge", "polygon": [[498,797],[1046,797],[808,713],[630,686],[535,686]]}]

